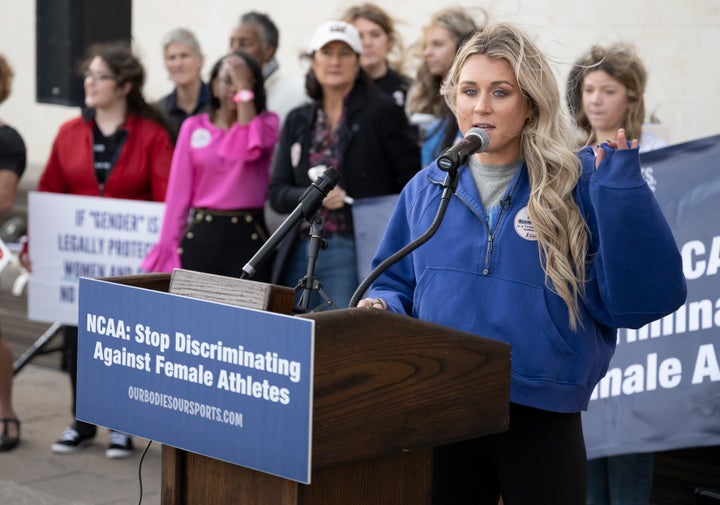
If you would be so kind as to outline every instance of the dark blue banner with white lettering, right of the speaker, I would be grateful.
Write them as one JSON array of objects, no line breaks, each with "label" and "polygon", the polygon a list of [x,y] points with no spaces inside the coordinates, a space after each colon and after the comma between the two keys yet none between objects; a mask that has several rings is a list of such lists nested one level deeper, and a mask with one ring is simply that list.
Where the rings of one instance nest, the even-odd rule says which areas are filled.
[{"label": "dark blue banner with white lettering, right of the speaker", "polygon": [[682,252],[687,301],[621,329],[583,430],[588,458],[720,444],[720,135],[641,155]]}]

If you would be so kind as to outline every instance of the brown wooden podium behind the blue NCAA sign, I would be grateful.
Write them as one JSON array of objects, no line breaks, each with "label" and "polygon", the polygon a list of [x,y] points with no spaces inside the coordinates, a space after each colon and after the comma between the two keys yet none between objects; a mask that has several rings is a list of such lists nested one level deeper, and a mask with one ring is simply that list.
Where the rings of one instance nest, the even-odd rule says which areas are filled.
[{"label": "brown wooden podium behind the blue NCAA sign", "polygon": [[[105,279],[290,314],[292,289],[189,270]],[[507,430],[510,346],[377,309],[315,320],[304,485],[163,446],[163,505],[430,504],[432,448]]]}]

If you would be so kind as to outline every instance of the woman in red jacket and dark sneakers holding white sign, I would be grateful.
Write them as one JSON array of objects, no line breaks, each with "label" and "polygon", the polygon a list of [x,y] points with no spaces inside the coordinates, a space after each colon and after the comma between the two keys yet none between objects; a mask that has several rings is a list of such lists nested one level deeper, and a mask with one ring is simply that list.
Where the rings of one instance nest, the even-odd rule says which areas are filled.
[{"label": "woman in red jacket and dark sneakers holding white sign", "polygon": [[[39,191],[162,202],[173,148],[159,113],[145,101],[145,71],[126,44],[93,46],[85,70],[81,117],[60,127]],[[73,412],[77,383],[77,326],[65,327]],[[75,420],[52,446],[70,454],[88,445],[97,427]],[[132,454],[132,439],[110,432],[109,458]]]}]

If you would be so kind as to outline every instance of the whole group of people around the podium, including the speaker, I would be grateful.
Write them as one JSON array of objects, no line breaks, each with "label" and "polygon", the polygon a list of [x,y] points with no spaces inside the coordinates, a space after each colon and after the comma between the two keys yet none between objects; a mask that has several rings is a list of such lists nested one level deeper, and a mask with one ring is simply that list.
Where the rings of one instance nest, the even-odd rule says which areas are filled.
[{"label": "whole group of people around the podium, including the speaker", "polygon": [[[94,45],[82,114],[61,125],[37,189],[165,202],[144,271],[241,277],[314,170],[336,170],[317,214],[327,247],[309,306],[347,307],[361,280],[352,202],[399,195],[377,265],[430,227],[446,177],[437,157],[484,129],[489,147],[458,174],[439,236],[358,304],[512,345],[510,429],[437,449],[433,503],[647,504],[649,484],[629,501],[611,461],[587,464],[581,422],[617,328],[662,317],[685,298],[672,234],[640,174],[638,151],[663,145],[643,129],[647,74],[632,46],[593,46],[573,66],[566,109],[532,38],[481,17],[433,14],[410,77],[393,18],[375,4],[352,6],[308,34],[304,83],[281,71],[280,31],[267,14],[238,18],[207,78],[193,32],[173,29],[161,47],[173,89],[156,102],[143,94],[145,69],[130,45]],[[6,67],[0,59],[0,84],[12,75]],[[0,101],[8,93],[1,85]],[[0,197],[14,194],[7,188],[25,164],[22,139],[7,128],[0,122]],[[296,223],[253,279],[302,286],[311,226]],[[655,234],[632,237],[639,228]],[[28,243],[28,270],[31,251]],[[532,316],[517,317],[516,307]],[[74,395],[77,327],[64,337]],[[11,450],[20,421],[5,347],[0,340],[0,450]],[[52,450],[74,453],[96,433],[75,419]],[[106,455],[132,454],[132,437],[111,431]],[[651,458],[633,461],[647,482]]]}]

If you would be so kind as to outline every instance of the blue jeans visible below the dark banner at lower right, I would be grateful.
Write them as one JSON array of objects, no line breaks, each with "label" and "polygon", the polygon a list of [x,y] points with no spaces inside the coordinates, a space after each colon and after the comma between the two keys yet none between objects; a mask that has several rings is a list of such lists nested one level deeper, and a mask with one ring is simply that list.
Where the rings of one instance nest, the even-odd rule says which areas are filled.
[{"label": "blue jeans visible below the dark banner at lower right", "polygon": [[588,461],[587,505],[648,505],[653,462],[652,452]]}]

